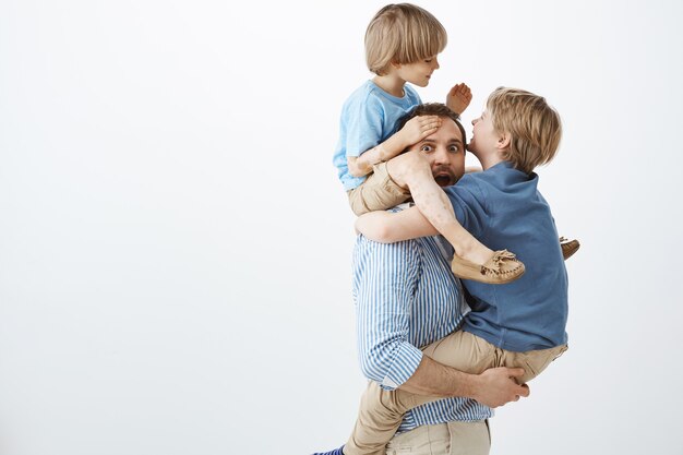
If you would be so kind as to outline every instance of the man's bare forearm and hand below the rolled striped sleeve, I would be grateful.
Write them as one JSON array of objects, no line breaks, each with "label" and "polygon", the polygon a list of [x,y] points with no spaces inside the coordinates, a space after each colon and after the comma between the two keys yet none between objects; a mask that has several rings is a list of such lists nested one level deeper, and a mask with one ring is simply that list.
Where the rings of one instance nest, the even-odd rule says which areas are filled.
[{"label": "man's bare forearm and hand below the rolled striped sleeve", "polygon": [[522,368],[505,367],[468,374],[424,356],[415,373],[399,388],[416,395],[463,396],[495,408],[516,402],[520,396],[529,396],[529,387],[514,381],[523,374]]}]

